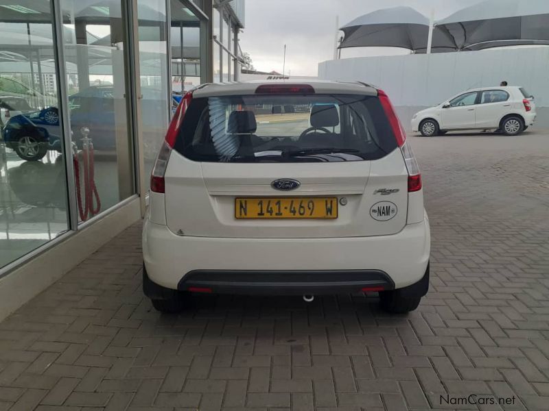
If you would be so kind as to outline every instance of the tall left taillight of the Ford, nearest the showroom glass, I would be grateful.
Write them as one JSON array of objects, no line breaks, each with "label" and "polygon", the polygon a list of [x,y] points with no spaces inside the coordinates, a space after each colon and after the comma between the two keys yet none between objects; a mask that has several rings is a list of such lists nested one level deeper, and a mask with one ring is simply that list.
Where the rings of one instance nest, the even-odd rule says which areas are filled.
[{"label": "tall left taillight of the Ford, nearest the showroom glass", "polygon": [[187,92],[185,97],[181,99],[181,102],[177,107],[176,114],[170,123],[170,127],[167,129],[166,137],[162,143],[162,147],[160,148],[159,155],[156,157],[150,176],[150,190],[152,192],[165,192],[164,175],[167,169],[167,162],[170,160],[170,153],[172,153],[172,149],[176,145],[181,123],[183,122],[185,112],[187,112],[187,108],[189,108],[189,104],[192,99],[192,91]]}]

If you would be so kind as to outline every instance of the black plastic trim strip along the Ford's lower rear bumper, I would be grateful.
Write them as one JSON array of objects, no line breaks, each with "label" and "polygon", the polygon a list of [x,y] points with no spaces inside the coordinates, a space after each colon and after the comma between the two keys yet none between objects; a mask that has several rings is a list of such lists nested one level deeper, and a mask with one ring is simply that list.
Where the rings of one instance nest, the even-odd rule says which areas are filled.
[{"label": "black plastic trim strip along the Ford's lower rear bumper", "polygon": [[216,294],[305,295],[358,292],[362,288],[393,290],[395,284],[383,271],[190,271],[178,290],[210,288]]}]

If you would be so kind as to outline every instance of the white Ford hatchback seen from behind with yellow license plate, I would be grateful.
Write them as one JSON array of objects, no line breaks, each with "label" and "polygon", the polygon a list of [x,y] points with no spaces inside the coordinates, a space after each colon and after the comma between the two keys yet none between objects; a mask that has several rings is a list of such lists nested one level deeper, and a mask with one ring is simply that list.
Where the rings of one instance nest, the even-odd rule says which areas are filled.
[{"label": "white Ford hatchback seen from behind with yellow license plate", "polygon": [[379,292],[408,312],[429,256],[421,175],[382,90],[209,84],[181,101],[143,226],[157,310],[178,312],[189,292]]}]

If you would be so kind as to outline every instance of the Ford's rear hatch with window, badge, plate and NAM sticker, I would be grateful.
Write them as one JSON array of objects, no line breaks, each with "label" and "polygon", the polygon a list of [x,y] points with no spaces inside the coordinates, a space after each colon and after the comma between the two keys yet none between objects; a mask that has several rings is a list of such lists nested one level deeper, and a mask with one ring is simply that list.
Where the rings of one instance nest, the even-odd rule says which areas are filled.
[{"label": "Ford's rear hatch with window, badge, plate and NAM sticker", "polygon": [[366,86],[353,94],[269,86],[185,96],[167,136],[167,226],[241,238],[401,231],[410,174],[404,134],[377,94]]}]

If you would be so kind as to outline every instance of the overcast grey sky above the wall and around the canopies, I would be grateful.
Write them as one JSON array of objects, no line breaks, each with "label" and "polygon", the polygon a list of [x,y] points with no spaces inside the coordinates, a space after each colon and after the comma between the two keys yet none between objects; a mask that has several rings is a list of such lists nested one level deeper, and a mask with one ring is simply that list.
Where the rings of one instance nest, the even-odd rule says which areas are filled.
[{"label": "overcast grey sky above the wall and around the canopies", "polygon": [[[435,19],[441,19],[481,0],[247,0],[246,27],[240,47],[247,51],[256,70],[282,72],[284,44],[285,73],[316,75],[318,63],[331,60],[336,42],[336,16],[339,26],[354,18],[398,5],[408,5]],[[346,55],[406,53],[398,49],[347,49]]]}]

